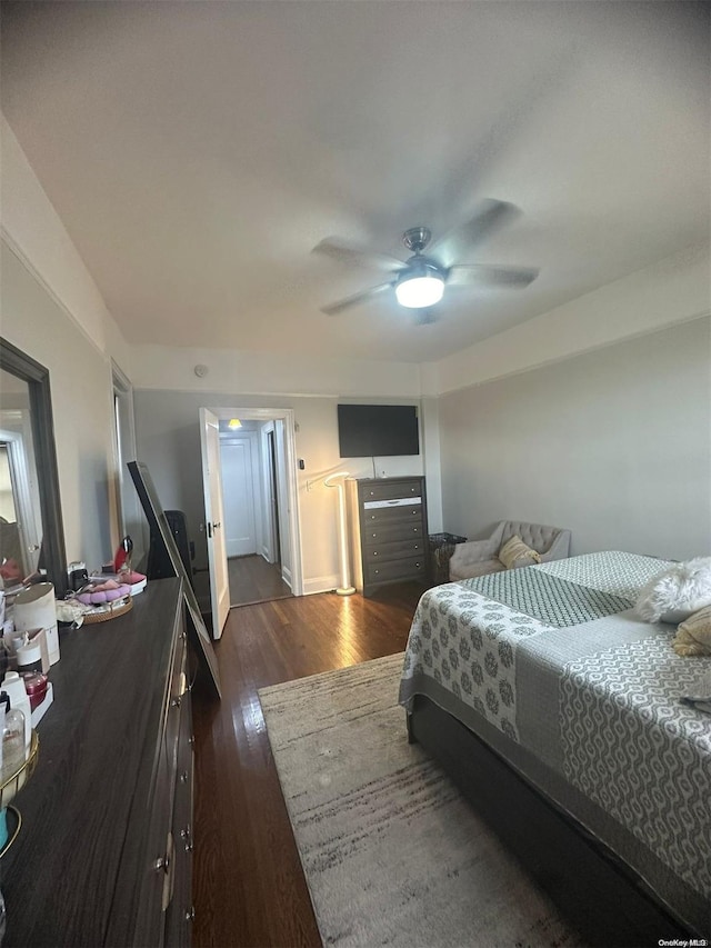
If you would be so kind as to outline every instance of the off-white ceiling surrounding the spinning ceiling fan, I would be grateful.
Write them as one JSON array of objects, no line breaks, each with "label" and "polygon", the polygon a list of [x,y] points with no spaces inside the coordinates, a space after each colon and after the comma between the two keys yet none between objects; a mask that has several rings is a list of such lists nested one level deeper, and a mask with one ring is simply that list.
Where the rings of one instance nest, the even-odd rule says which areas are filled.
[{"label": "off-white ceiling surrounding the spinning ceiling fan", "polygon": [[[8,2],[2,110],[131,342],[430,361],[709,238],[709,6]],[[522,217],[432,326],[310,251]]]}]

